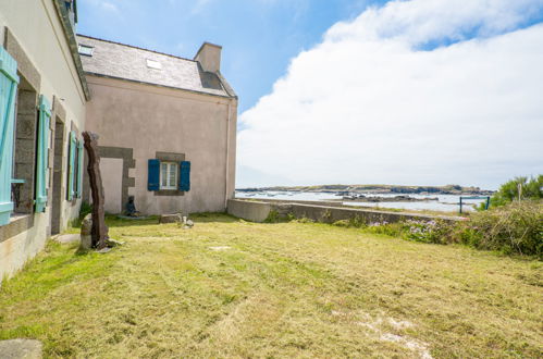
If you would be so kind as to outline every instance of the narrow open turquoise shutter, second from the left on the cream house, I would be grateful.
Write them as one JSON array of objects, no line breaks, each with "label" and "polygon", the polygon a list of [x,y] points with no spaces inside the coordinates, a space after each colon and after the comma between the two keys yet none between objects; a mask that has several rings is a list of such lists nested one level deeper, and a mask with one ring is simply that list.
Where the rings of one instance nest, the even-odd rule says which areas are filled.
[{"label": "narrow open turquoise shutter, second from the left on the cream house", "polygon": [[36,212],[45,212],[47,206],[47,168],[49,149],[49,121],[51,106],[44,95],[39,97],[38,148],[36,153]]}]

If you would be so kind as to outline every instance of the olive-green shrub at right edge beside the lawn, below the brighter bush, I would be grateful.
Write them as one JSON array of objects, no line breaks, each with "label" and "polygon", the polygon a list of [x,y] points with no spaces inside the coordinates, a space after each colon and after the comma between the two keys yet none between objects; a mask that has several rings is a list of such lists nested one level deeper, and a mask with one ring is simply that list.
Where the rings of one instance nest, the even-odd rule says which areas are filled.
[{"label": "olive-green shrub at right edge beside the lawn, below the brighter bush", "polygon": [[516,201],[477,212],[456,231],[459,242],[479,249],[543,257],[543,202]]}]

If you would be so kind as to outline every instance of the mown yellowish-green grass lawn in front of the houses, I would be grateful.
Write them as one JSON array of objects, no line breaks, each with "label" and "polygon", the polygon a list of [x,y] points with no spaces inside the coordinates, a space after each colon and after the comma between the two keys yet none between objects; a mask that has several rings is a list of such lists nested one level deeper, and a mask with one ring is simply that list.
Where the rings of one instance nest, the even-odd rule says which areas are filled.
[{"label": "mown yellowish-green grass lawn in front of the houses", "polygon": [[47,357],[535,358],[543,265],[314,223],[110,221],[0,288],[0,339]]}]

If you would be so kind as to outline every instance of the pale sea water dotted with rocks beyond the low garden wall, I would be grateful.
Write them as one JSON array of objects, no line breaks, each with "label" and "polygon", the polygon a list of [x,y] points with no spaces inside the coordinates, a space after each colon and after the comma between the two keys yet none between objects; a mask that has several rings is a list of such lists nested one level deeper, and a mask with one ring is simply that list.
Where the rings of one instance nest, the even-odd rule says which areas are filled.
[{"label": "pale sea water dotted with rocks beyond the low garden wall", "polygon": [[[398,194],[363,194],[367,197],[395,197]],[[417,201],[417,202],[357,202],[357,201],[343,201],[343,205],[346,206],[360,206],[360,207],[370,207],[370,208],[394,208],[394,209],[406,209],[406,210],[430,210],[430,211],[440,211],[440,212],[458,212],[460,209],[459,201],[460,196],[457,195],[406,195],[414,198],[437,198],[437,200],[429,200],[429,201]],[[335,194],[330,193],[300,193],[300,191],[257,191],[257,193],[247,193],[247,191],[236,191],[236,198],[255,198],[255,199],[289,199],[289,200],[329,200],[329,199],[340,199],[343,196],[337,196]],[[473,211],[473,207],[478,206],[481,202],[484,202],[485,199],[462,199],[462,211]]]}]

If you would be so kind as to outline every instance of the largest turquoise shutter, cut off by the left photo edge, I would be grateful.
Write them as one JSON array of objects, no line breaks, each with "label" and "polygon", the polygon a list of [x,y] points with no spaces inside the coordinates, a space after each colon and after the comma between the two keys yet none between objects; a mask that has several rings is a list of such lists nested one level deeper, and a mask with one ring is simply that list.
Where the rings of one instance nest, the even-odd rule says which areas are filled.
[{"label": "largest turquoise shutter, cut off by the left photo edge", "polygon": [[10,223],[13,211],[11,176],[17,84],[17,62],[0,47],[0,225]]}]

